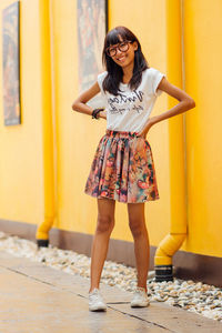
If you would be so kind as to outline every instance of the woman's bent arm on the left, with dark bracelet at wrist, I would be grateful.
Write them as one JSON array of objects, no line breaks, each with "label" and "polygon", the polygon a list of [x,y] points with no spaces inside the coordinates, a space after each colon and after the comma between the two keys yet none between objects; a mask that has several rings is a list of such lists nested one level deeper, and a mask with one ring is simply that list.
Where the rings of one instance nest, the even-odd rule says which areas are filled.
[{"label": "woman's bent arm on the left, with dark bracelet at wrist", "polygon": [[[79,95],[79,98],[72,103],[72,110],[81,113],[92,115],[93,109],[87,104],[95,94],[100,92],[100,87],[95,82],[90,89]],[[99,113],[100,118],[107,119],[104,111]]]}]

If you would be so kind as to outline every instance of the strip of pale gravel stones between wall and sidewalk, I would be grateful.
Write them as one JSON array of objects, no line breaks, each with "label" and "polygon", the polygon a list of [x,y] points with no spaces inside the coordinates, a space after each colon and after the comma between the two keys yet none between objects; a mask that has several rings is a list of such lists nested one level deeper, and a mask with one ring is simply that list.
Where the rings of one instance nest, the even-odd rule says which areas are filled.
[{"label": "strip of pale gravel stones between wall and sidewalk", "polygon": [[[41,262],[44,265],[90,279],[90,258],[56,246],[38,249],[32,241],[0,232],[0,250],[19,258]],[[101,282],[133,292],[137,286],[137,270],[112,261],[105,261]],[[155,282],[154,272],[149,272],[148,293],[151,301],[199,313],[222,322],[222,289],[192,280],[174,279],[173,282]]]}]

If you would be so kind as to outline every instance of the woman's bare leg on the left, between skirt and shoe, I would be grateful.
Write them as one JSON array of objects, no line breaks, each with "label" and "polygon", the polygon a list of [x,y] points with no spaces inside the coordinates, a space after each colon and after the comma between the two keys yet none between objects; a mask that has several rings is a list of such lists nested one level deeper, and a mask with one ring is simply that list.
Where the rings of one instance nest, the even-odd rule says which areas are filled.
[{"label": "woman's bare leg on the left, between skirt and shoe", "polygon": [[94,287],[99,289],[110,235],[114,228],[114,200],[98,199],[98,223],[91,250],[91,285],[89,292]]}]

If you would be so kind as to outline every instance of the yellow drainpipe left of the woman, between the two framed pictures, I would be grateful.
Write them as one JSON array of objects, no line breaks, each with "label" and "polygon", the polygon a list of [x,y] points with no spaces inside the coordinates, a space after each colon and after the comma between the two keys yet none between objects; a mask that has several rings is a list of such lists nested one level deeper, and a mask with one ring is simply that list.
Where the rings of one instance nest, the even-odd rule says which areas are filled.
[{"label": "yellow drainpipe left of the woman, between the two framed pictures", "polygon": [[46,244],[44,241],[48,242],[49,240],[49,231],[54,220],[50,0],[39,0],[39,13],[42,92],[43,221],[38,226],[36,238],[39,244],[41,244],[41,242]]}]

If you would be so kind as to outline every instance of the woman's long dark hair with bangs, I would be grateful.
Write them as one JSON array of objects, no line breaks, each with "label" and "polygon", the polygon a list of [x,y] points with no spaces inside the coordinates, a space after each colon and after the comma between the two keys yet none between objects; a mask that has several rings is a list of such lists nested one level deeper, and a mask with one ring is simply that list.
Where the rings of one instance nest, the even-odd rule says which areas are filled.
[{"label": "woman's long dark hair with bangs", "polygon": [[129,82],[131,90],[137,89],[140,85],[142,72],[149,68],[148,62],[142,53],[141,44],[132,31],[125,27],[115,27],[114,29],[110,30],[104,39],[104,48],[102,53],[102,62],[108,71],[108,74],[103,80],[102,88],[104,91],[108,91],[114,95],[117,95],[118,91],[120,91],[119,85],[122,81],[123,71],[122,68],[107,54],[105,50],[110,46],[121,42],[120,38],[131,42],[137,41],[138,43],[138,50],[134,51],[133,74]]}]

